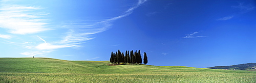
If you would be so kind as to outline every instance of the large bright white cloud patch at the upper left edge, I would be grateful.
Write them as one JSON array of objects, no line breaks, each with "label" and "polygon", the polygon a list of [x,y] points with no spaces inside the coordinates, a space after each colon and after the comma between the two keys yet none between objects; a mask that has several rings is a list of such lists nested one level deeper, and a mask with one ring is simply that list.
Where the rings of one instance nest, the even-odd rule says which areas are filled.
[{"label": "large bright white cloud patch at the upper left edge", "polygon": [[46,28],[45,13],[35,12],[40,10],[34,6],[20,6],[0,4],[0,28],[6,29],[12,34],[32,34],[51,29]]}]

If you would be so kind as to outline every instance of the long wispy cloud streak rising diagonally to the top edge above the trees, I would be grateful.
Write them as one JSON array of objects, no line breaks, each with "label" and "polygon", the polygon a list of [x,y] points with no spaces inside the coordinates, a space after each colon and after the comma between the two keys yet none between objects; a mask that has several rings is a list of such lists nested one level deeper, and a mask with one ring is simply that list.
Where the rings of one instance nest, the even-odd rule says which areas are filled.
[{"label": "long wispy cloud streak rising diagonally to the top edge above the trees", "polygon": [[67,33],[68,35],[64,37],[63,40],[60,41],[60,43],[82,43],[84,41],[92,40],[95,37],[91,37],[91,35],[101,33],[110,29],[113,21],[132,14],[133,10],[138,8],[144,2],[146,2],[146,0],[139,0],[135,6],[126,10],[122,15],[105,19],[103,21],[75,21],[71,23],[66,23],[62,25],[62,27],[69,29],[70,32]]}]

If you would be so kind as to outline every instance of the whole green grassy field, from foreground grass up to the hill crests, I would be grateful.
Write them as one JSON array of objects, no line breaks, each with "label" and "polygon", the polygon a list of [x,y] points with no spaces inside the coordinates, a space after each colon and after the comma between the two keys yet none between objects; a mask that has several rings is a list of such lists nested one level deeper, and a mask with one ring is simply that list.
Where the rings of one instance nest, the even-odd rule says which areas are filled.
[{"label": "whole green grassy field, from foreground grass up to the hill crests", "polygon": [[256,82],[256,71],[0,58],[0,82]]}]

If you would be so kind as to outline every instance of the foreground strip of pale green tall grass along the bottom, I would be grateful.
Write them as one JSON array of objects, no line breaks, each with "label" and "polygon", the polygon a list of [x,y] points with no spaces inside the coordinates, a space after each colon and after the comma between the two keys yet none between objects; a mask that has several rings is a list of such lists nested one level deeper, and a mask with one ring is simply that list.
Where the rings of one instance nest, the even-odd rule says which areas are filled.
[{"label": "foreground strip of pale green tall grass along the bottom", "polygon": [[256,74],[172,72],[136,74],[0,73],[0,82],[256,82]]}]

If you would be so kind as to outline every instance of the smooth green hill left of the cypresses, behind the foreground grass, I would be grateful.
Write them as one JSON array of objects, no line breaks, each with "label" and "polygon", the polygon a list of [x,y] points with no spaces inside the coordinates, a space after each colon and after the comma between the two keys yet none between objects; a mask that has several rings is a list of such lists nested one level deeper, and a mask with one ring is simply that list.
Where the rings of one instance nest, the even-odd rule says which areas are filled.
[{"label": "smooth green hill left of the cypresses, behind the foreground grass", "polygon": [[0,58],[2,72],[97,73],[108,62],[65,61],[50,58]]}]

